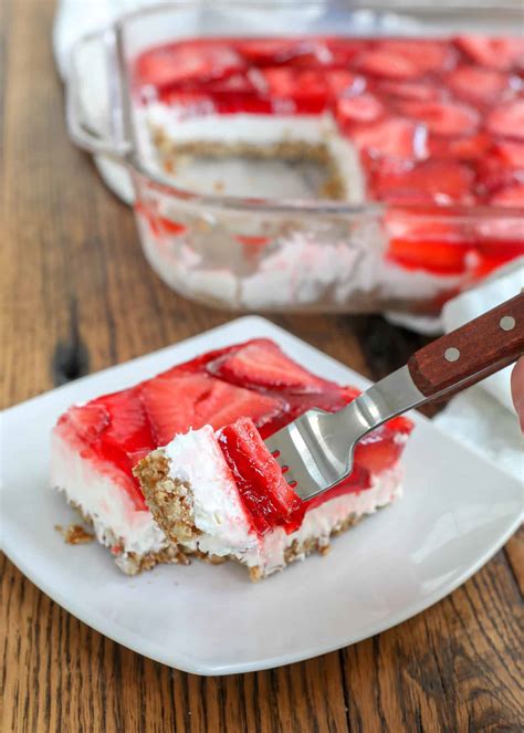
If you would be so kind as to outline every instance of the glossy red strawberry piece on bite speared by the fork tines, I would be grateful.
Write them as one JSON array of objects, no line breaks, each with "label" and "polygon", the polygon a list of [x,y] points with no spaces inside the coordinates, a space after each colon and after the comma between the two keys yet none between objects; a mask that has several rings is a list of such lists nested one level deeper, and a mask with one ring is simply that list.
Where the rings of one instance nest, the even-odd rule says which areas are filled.
[{"label": "glossy red strawberry piece on bite speared by the fork tines", "polygon": [[285,481],[254,423],[241,418],[226,426],[219,436],[219,444],[259,532],[285,523],[302,502]]}]

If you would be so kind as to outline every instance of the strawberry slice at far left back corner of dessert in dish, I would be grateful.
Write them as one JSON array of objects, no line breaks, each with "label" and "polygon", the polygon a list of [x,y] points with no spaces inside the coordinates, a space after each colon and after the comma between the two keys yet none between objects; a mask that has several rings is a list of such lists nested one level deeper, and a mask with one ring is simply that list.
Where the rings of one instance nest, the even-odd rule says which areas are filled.
[{"label": "strawberry slice at far left back corner of dessert in dish", "polygon": [[161,88],[181,82],[218,78],[243,66],[241,56],[227,43],[184,42],[143,53],[136,62],[136,74],[142,84]]}]

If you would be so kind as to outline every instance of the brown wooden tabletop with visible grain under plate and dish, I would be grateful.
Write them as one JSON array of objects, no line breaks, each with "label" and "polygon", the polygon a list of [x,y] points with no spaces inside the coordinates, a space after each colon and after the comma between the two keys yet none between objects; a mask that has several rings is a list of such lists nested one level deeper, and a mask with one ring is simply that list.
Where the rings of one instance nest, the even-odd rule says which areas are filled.
[{"label": "brown wooden tabletop with visible grain under plate and dish", "polygon": [[[69,143],[52,15],[46,0],[0,2],[2,407],[231,317],[163,285],[129,209]],[[274,320],[373,377],[420,343],[378,316]],[[206,679],[92,631],[2,556],[0,730],[516,731],[522,559],[513,538],[390,631],[304,663]]]}]

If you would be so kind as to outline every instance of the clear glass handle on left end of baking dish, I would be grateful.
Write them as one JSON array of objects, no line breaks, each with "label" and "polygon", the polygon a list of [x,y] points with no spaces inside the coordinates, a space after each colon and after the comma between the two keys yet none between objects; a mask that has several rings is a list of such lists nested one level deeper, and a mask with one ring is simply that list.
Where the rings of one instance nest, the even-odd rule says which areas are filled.
[{"label": "clear glass handle on left end of baking dish", "polygon": [[[82,74],[80,73],[80,56],[87,44],[98,44],[103,54],[103,65],[106,73],[106,88],[104,90],[107,114],[104,119],[104,129],[97,129],[93,121],[88,121],[85,106],[82,103]],[[94,73],[96,70],[94,70]],[[114,29],[91,33],[80,39],[71,50],[70,66],[66,77],[66,119],[71,139],[75,145],[94,153],[103,154],[123,161],[130,149],[126,139],[123,106],[123,76],[118,63],[118,50]],[[101,87],[102,88],[102,87]]]}]

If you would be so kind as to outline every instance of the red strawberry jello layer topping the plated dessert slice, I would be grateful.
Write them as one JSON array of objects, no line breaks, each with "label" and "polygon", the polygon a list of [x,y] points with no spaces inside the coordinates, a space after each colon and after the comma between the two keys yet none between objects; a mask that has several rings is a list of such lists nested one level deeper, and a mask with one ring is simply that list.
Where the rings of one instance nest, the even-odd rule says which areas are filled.
[{"label": "red strawberry jello layer topping the plated dessert slice", "polygon": [[[274,473],[271,455],[262,455],[269,461],[264,471],[255,463],[247,469],[251,461],[247,446],[258,441],[263,447],[264,438],[311,407],[338,410],[357,395],[355,389],[315,376],[272,341],[259,338],[208,352],[130,389],[72,407],[59,419],[57,430],[82,458],[94,461],[101,471],[112,471],[137,509],[146,509],[132,474],[138,460],[191,428],[226,428],[221,444],[247,514],[253,527],[264,532],[284,520],[287,528],[298,526],[306,506],[280,470]],[[244,418],[249,425],[239,433],[233,428],[243,425]],[[352,480],[337,486],[337,492],[369,488],[371,474],[396,463],[402,449],[398,436],[409,433],[411,427],[409,420],[397,418],[368,436],[357,448]],[[247,482],[242,478],[247,471],[259,471],[258,478]]]}]

